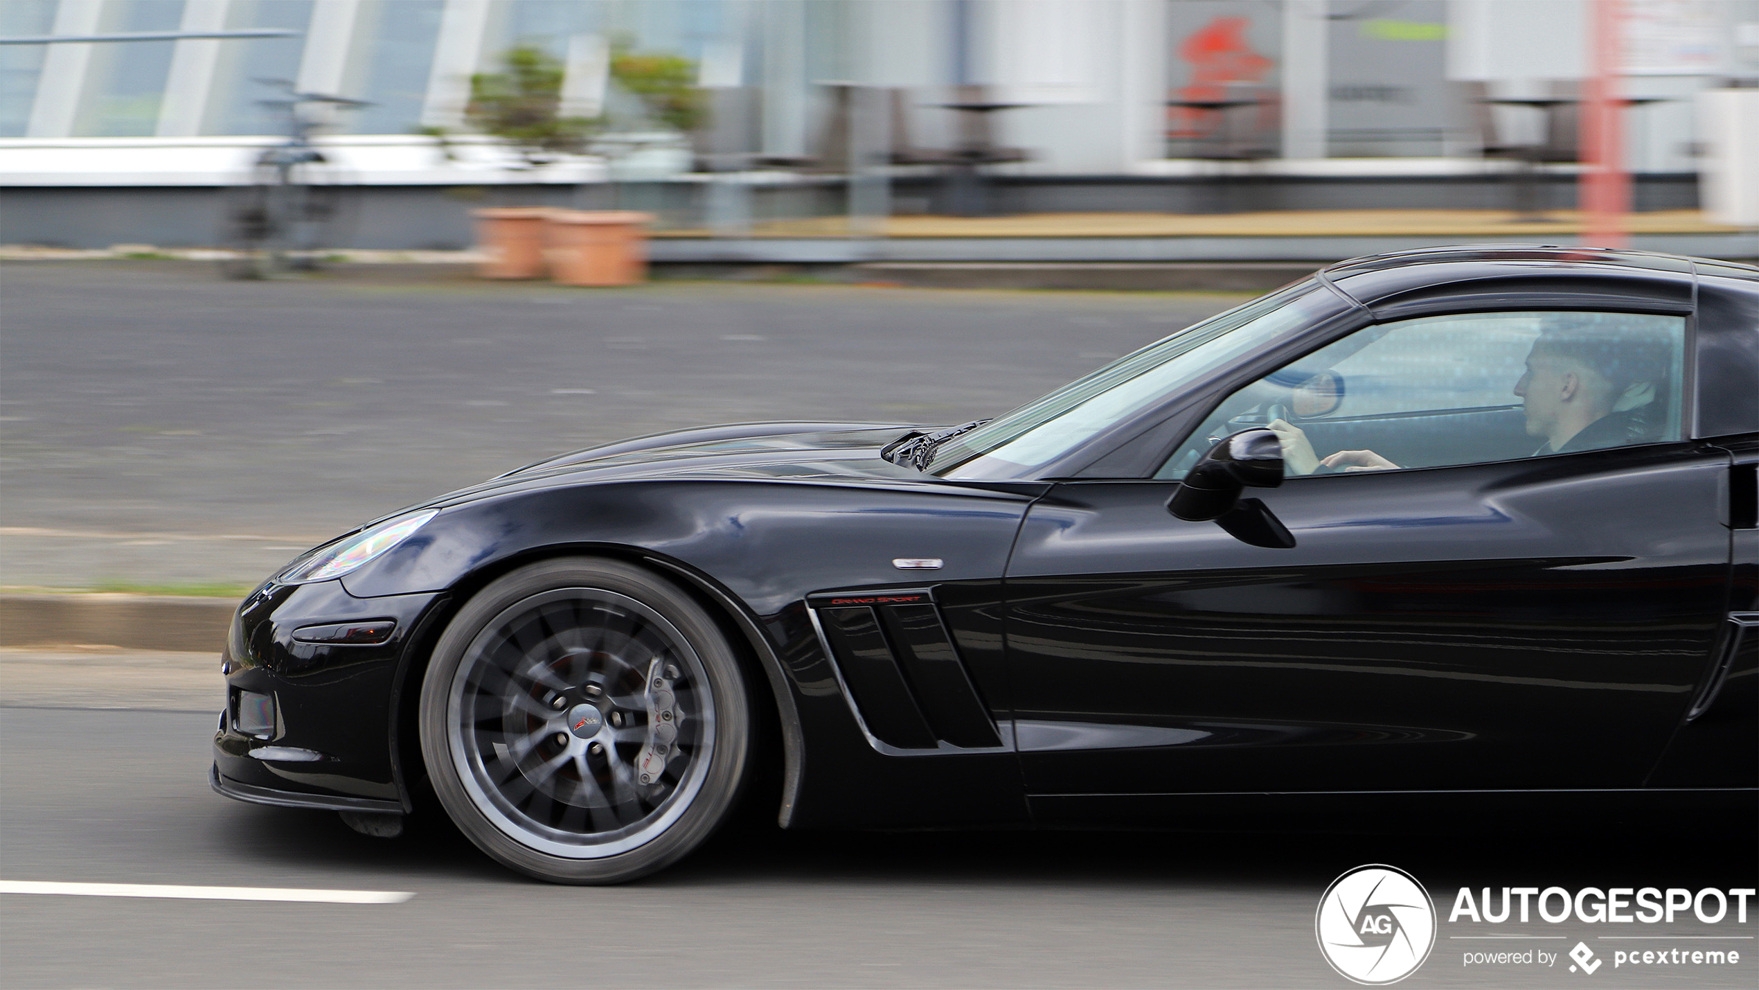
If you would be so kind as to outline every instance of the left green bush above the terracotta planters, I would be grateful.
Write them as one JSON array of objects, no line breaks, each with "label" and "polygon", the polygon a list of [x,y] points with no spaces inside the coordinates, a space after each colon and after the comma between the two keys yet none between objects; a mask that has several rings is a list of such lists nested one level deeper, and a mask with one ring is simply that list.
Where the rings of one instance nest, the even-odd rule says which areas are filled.
[{"label": "left green bush above the terracotta planters", "polygon": [[598,128],[595,118],[561,116],[563,65],[542,47],[519,44],[501,55],[503,72],[470,77],[464,118],[512,144],[529,165],[580,151]]}]

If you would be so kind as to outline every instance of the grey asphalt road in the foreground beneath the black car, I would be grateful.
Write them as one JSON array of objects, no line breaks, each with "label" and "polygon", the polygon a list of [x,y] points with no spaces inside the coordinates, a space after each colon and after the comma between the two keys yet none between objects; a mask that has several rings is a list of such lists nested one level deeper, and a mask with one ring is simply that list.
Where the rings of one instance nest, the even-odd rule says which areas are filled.
[{"label": "grey asphalt road in the foreground beneath the black car", "polygon": [[[1360,863],[1411,870],[1441,911],[1462,883],[1696,890],[1754,876],[1752,835],[1697,819],[1481,837],[770,832],[718,839],[633,884],[565,888],[496,867],[443,823],[368,839],[327,812],[222,798],[206,783],[213,721],[0,707],[0,877],[413,897],[0,895],[0,985],[1349,986],[1312,923],[1326,884]],[[1755,927],[1666,934],[1748,935],[1675,943],[1741,948]],[[1595,934],[1574,925],[1571,941],[1537,944]],[[1404,986],[1581,983],[1562,967],[1472,971],[1462,946],[1485,943],[1444,937]],[[1743,955],[1664,974],[1608,967],[1581,985],[1752,986],[1759,953]]]}]

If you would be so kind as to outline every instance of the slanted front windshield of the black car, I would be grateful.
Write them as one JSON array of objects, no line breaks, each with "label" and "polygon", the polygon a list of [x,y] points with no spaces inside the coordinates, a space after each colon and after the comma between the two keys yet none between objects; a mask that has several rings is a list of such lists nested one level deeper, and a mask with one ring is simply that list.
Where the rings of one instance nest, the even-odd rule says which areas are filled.
[{"label": "slanted front windshield of the black car", "polygon": [[953,480],[1020,478],[1077,450],[1187,382],[1317,320],[1339,297],[1302,281],[1212,317],[1078,378],[934,452],[932,473]]}]

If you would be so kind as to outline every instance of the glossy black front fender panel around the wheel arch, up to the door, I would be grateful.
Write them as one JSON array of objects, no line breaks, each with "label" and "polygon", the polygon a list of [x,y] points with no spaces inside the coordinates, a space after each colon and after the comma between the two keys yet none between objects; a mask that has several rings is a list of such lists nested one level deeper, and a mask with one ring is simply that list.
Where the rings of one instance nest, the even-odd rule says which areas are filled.
[{"label": "glossy black front fender panel around the wheel arch, up to the door", "polygon": [[[948,747],[899,758],[869,742],[825,656],[806,600],[823,591],[920,589],[922,577],[897,570],[892,561],[941,559],[943,568],[932,575],[934,600],[953,631],[962,663],[980,686],[985,710],[1004,723],[1001,637],[992,626],[999,621],[1006,556],[1031,494],[938,480],[832,477],[825,462],[814,471],[816,482],[749,475],[575,485],[552,480],[551,487],[452,505],[398,550],[343,580],[273,587],[260,601],[246,603],[241,612],[245,640],[255,644],[248,679],[257,686],[250,689],[280,688],[280,679],[290,675],[276,670],[276,663],[290,654],[274,652],[267,644],[285,638],[296,626],[317,622],[313,615],[334,621],[339,600],[352,601],[341,612],[354,608],[364,615],[389,608],[401,619],[405,612],[396,612],[396,603],[434,600],[442,591],[466,598],[470,587],[538,557],[644,559],[679,584],[732,603],[746,626],[762,635],[755,644],[756,659],[781,688],[777,709],[786,723],[785,737],[795,740],[786,754],[790,793],[783,800],[783,818],[788,825],[1025,821],[1015,756],[1006,746]],[[413,615],[406,619],[415,621]],[[362,647],[334,647],[343,649]],[[338,746],[331,717],[322,719],[327,724],[320,735],[331,733],[331,747],[348,751],[336,756],[352,760],[350,765],[378,783],[375,795],[408,800],[406,788],[401,795],[385,790],[394,783],[392,763],[412,756],[406,740],[396,747],[392,761],[380,756],[375,763],[369,753],[383,751],[387,739],[398,740],[394,698],[387,702],[390,684],[419,677],[426,654],[419,644],[403,652],[380,651],[371,659],[361,656],[354,663],[361,668],[357,677],[371,670],[375,681],[357,682],[357,698],[339,705],[336,716],[361,726],[359,735],[348,735],[359,742]],[[327,668],[336,665],[331,661]],[[376,705],[361,698],[373,698]]]}]

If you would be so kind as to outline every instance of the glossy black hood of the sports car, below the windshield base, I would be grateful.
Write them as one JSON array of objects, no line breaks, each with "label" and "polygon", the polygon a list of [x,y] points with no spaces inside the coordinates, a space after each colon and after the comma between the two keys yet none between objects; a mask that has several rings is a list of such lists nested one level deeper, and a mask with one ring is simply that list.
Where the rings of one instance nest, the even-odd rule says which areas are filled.
[{"label": "glossy black hood of the sports car, below the windshield base", "polygon": [[[807,429],[799,429],[799,427]],[[593,447],[528,464],[426,503],[445,506],[508,491],[640,478],[920,482],[880,459],[911,424],[728,424]]]}]

